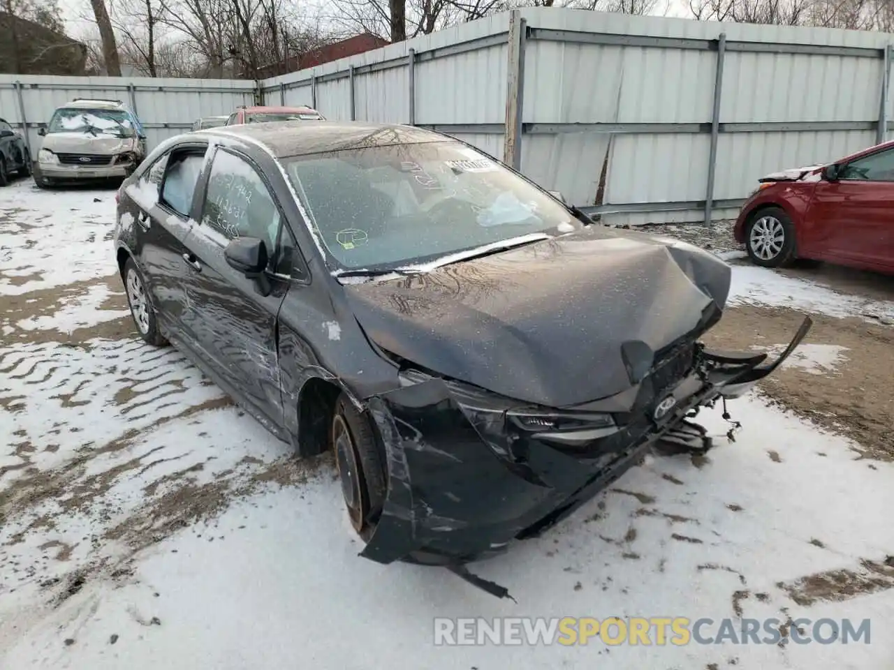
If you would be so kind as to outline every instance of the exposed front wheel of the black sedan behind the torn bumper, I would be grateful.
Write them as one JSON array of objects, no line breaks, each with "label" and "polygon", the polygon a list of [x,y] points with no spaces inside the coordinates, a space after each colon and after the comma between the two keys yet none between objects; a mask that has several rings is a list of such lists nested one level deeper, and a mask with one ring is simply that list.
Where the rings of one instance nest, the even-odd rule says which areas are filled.
[{"label": "exposed front wheel of the black sedan behind the torn bumper", "polygon": [[368,542],[388,493],[385,468],[372,423],[343,393],[335,401],[329,439],[350,524]]}]

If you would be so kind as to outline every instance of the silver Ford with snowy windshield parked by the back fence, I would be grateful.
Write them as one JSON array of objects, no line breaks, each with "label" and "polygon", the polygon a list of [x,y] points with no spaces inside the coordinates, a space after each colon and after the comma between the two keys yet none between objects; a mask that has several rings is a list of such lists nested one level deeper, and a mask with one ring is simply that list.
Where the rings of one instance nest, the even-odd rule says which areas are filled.
[{"label": "silver Ford with snowy windshield parked by the back fence", "polygon": [[40,188],[72,180],[123,179],[146,155],[146,135],[121,100],[77,98],[46,128],[34,181]]}]

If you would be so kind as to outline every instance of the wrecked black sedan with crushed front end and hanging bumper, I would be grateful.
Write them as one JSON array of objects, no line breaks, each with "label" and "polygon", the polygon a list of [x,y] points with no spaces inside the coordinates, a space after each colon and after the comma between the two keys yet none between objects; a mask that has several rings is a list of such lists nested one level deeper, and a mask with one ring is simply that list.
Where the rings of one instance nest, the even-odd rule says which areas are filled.
[{"label": "wrecked black sedan with crushed front end and hanging bumper", "polygon": [[[406,126],[170,139],[118,194],[134,322],[301,456],[333,449],[362,556],[456,566],[569,515],[771,373],[716,352],[730,267],[595,223]],[[459,568],[457,568],[459,569]]]}]

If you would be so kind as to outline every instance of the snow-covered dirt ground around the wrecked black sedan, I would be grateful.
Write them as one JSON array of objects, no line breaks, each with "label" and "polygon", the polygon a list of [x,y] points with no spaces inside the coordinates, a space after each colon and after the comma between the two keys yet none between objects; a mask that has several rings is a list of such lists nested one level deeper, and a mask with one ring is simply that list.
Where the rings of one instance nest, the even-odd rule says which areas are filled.
[{"label": "snow-covered dirt ground around the wrecked black sedan", "polygon": [[[730,403],[734,443],[650,457],[474,566],[517,604],[443,570],[376,565],[357,556],[327,458],[296,462],[175,350],[91,336],[126,323],[113,211],[111,190],[0,189],[0,305],[16,306],[0,310],[0,668],[890,670],[894,465],[755,395]],[[750,266],[735,268],[732,300],[867,308]],[[849,353],[805,347],[789,364],[833,374]],[[727,430],[717,413],[704,423]],[[873,635],[435,647],[435,616],[851,617]]]}]

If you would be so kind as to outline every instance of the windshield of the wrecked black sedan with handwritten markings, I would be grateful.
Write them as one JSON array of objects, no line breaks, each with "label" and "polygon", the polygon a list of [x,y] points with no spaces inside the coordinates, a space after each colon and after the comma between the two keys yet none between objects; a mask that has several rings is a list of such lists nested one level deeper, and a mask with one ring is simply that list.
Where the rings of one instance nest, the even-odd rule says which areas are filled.
[{"label": "windshield of the wrecked black sedan with handwritten markings", "polygon": [[297,156],[286,172],[336,271],[425,264],[583,226],[547,193],[459,142]]}]

